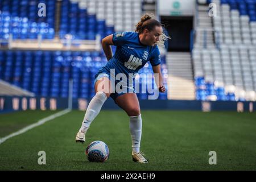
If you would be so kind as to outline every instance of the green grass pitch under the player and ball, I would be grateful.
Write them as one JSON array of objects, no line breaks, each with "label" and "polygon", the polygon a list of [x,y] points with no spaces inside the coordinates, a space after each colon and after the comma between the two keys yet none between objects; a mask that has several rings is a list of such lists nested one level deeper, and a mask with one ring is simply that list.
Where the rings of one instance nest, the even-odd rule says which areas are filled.
[{"label": "green grass pitch under the player and ball", "polygon": [[[0,115],[0,138],[56,111],[19,111]],[[255,170],[256,113],[142,110],[141,151],[148,164],[131,159],[129,117],[102,110],[84,144],[75,143],[84,112],[73,110],[0,144],[0,170]],[[110,157],[88,162],[86,146],[102,140]],[[38,152],[46,152],[46,165]],[[210,165],[209,151],[217,152]]]}]

